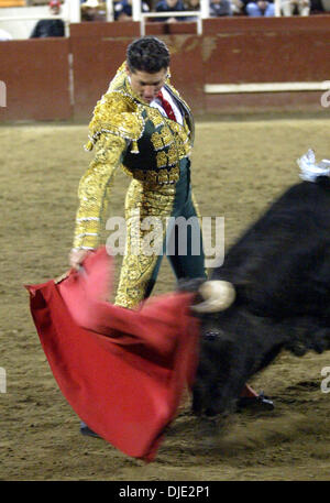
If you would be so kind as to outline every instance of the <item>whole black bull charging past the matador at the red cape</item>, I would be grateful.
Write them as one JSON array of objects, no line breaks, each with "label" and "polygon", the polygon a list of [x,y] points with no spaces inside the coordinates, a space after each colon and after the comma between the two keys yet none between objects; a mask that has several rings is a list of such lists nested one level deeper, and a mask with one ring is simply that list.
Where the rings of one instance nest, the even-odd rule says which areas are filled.
[{"label": "whole black bull charging past the matador at the red cape", "polygon": [[[330,349],[330,181],[290,187],[230,248],[211,280],[235,287],[226,310],[201,316],[193,409],[233,409],[244,383],[282,349]],[[190,284],[191,288],[191,284]]]}]

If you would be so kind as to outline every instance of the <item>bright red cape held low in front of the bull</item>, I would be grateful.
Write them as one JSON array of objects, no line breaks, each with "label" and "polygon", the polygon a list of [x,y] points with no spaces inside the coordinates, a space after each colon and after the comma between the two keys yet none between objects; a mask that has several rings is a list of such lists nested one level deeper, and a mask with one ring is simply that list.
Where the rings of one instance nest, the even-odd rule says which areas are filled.
[{"label": "bright red cape held low in front of the bull", "polygon": [[61,283],[28,285],[31,313],[77,415],[124,453],[152,461],[194,380],[198,320],[190,294],[156,297],[140,310],[108,303],[110,261],[102,248]]}]

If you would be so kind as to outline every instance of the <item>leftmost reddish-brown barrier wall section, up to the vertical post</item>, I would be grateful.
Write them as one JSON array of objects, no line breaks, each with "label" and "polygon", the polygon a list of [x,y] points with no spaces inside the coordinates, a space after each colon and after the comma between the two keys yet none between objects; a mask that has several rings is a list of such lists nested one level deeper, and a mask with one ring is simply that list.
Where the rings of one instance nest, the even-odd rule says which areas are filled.
[{"label": "leftmost reddish-brown barrier wall section, up to the vertical post", "polygon": [[0,121],[70,119],[68,53],[68,39],[1,42]]}]

